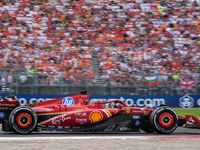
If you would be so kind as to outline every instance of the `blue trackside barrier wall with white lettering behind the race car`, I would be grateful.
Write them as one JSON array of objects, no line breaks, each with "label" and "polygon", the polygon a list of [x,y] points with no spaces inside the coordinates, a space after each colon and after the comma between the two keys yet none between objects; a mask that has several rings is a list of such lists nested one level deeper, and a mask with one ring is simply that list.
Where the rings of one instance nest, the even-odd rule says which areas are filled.
[{"label": "blue trackside barrier wall with white lettering behind the race car", "polygon": [[[1,95],[5,97],[6,95]],[[16,95],[21,105],[28,103],[42,102],[60,97],[69,97],[67,95]],[[159,106],[167,104],[170,107],[180,108],[200,108],[200,95],[90,95],[90,101],[109,99],[120,99],[130,107],[144,107],[149,104]]]}]

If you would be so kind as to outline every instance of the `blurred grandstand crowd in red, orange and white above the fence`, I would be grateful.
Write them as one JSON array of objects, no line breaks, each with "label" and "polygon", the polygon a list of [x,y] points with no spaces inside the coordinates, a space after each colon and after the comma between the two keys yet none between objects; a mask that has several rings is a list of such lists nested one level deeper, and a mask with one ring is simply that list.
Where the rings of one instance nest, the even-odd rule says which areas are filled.
[{"label": "blurred grandstand crowd in red, orange and white above the fence", "polygon": [[[0,70],[9,82],[177,84],[200,73],[200,3],[187,0],[0,2]],[[11,76],[13,79],[10,79]],[[2,76],[2,78],[5,78]],[[8,78],[6,79],[8,81]]]}]

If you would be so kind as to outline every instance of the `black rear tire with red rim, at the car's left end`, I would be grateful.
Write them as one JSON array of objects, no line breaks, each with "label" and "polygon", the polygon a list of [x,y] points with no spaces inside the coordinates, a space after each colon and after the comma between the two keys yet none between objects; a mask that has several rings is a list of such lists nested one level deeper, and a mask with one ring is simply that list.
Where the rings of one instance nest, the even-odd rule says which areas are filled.
[{"label": "black rear tire with red rim, at the car's left end", "polygon": [[36,127],[37,115],[31,108],[20,106],[11,112],[8,122],[15,133],[29,134]]}]

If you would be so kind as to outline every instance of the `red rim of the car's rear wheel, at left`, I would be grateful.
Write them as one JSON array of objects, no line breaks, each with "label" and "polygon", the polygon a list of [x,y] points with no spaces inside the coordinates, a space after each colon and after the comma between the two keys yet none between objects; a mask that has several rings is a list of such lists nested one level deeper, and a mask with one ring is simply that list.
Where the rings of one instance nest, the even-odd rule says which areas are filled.
[{"label": "red rim of the car's rear wheel, at left", "polygon": [[31,126],[32,118],[28,113],[20,113],[16,118],[16,123],[20,128],[28,128]]}]

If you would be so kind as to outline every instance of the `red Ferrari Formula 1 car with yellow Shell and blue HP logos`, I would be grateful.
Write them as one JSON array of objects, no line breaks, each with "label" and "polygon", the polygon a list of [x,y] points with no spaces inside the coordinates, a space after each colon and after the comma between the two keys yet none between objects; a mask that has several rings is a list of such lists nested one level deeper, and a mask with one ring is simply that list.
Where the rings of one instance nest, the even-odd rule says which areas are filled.
[{"label": "red Ferrari Formula 1 car with yellow Shell and blue HP logos", "polygon": [[170,107],[128,107],[120,100],[89,103],[89,95],[57,98],[20,106],[15,96],[2,98],[0,123],[3,131],[154,132],[169,134],[177,126],[200,128],[194,116],[178,116]]}]

